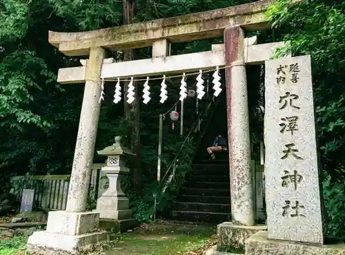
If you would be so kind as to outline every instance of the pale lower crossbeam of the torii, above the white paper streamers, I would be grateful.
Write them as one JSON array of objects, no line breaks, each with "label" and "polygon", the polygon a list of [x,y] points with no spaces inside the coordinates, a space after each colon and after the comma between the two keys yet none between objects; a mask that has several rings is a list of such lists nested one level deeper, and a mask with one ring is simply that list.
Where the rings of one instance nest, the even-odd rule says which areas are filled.
[{"label": "pale lower crossbeam of the torii, above the white paper streamers", "polygon": [[[250,37],[251,39],[253,37]],[[247,40],[246,40],[247,41]],[[248,65],[258,65],[274,56],[275,49],[282,47],[284,42],[263,43],[252,45],[247,41],[244,48],[244,61]],[[169,57],[155,57],[118,63],[103,61],[101,77],[117,79],[130,76],[155,76],[170,73],[195,72],[200,69],[213,69],[225,65],[224,44],[213,44],[212,50],[205,52],[179,54]],[[108,62],[108,61],[107,61]],[[83,83],[85,81],[86,66],[76,68],[60,68],[57,75],[59,83]]]}]

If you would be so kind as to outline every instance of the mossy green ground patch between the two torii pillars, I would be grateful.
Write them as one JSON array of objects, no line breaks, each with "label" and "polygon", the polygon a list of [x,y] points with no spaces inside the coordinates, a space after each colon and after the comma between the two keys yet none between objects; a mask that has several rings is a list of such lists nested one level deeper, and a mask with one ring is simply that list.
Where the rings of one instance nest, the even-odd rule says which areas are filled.
[{"label": "mossy green ground patch between the two torii pillars", "polygon": [[153,223],[115,236],[117,244],[107,255],[202,254],[215,243],[215,227]]}]

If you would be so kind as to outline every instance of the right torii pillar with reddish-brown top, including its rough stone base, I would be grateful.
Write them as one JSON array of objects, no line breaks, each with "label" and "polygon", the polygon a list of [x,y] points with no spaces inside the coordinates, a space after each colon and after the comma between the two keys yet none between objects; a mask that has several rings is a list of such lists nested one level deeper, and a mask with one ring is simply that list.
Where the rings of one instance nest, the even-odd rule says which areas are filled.
[{"label": "right torii pillar with reddish-brown top, including its rough stone base", "polygon": [[220,245],[226,243],[232,248],[244,249],[246,238],[267,228],[255,225],[244,31],[240,26],[224,30],[224,47],[232,222],[219,224],[217,232]]}]

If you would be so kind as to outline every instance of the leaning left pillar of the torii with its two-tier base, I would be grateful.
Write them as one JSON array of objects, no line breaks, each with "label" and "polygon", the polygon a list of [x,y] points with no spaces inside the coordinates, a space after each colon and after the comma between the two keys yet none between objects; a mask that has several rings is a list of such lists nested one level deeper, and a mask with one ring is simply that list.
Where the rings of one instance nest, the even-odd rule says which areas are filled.
[{"label": "leaning left pillar of the torii with its two-tier base", "polygon": [[83,254],[108,238],[106,232],[98,230],[99,213],[85,212],[101,108],[98,101],[104,58],[103,48],[90,48],[66,211],[49,212],[46,231],[34,232],[28,239],[28,254]]}]

